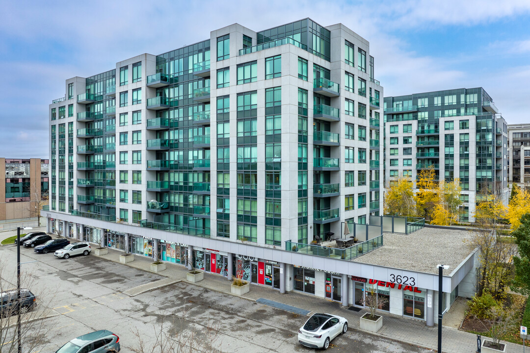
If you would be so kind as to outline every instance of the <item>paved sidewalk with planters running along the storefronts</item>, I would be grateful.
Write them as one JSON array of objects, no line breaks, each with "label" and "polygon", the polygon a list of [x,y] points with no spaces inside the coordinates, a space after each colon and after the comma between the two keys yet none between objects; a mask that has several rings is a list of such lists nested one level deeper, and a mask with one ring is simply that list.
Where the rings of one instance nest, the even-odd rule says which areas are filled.
[{"label": "paved sidewalk with planters running along the storefronts", "polygon": [[[101,256],[101,258],[119,262],[119,257],[121,254],[123,254],[121,251],[109,249],[109,253],[107,255]],[[149,258],[135,256],[135,260],[131,263],[128,263],[127,266],[151,272],[151,263],[152,260]],[[186,282],[187,272],[188,269],[184,268],[184,266],[166,263],[166,270],[158,272],[158,274]],[[171,282],[172,281],[170,280],[167,281],[169,284],[171,284]],[[205,273],[204,280],[195,283],[195,285],[220,293],[232,295],[230,292],[231,283],[232,280],[227,280],[226,278],[219,275]],[[153,286],[156,287],[158,284],[155,282]],[[131,291],[131,289],[129,289],[128,292]],[[250,292],[243,295],[242,298],[251,301],[256,301],[259,298],[265,298],[267,300],[305,309],[311,313],[326,312],[344,316],[348,319],[349,327],[356,330],[360,330],[360,316],[367,312],[367,310],[361,310],[360,312],[347,310],[345,307],[342,307],[340,303],[326,301],[323,298],[297,292],[280,294],[280,292],[276,291],[275,289],[257,285],[251,285]],[[372,332],[368,333],[374,334]],[[395,316],[389,313],[383,313],[383,328],[374,335],[410,343],[414,346],[425,347],[432,350],[436,350],[438,345],[438,328],[436,326],[427,327],[425,321],[404,319],[401,318],[401,316]],[[474,353],[476,351],[476,335],[444,326],[442,328],[442,349],[447,353]],[[507,343],[507,353],[519,353],[522,351],[523,347],[521,345]]]}]

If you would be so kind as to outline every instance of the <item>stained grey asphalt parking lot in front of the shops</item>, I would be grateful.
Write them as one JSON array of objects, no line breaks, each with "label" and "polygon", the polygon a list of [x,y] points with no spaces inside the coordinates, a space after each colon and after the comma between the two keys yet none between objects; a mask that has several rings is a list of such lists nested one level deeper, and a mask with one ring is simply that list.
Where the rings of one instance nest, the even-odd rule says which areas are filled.
[{"label": "stained grey asphalt parking lot in front of the shops", "polygon": [[[164,338],[179,332],[179,337],[193,337],[192,344],[211,343],[211,351],[314,351],[297,343],[305,316],[186,282],[129,297],[123,294],[127,289],[165,277],[94,255],[64,260],[36,254],[30,248],[21,249],[21,254],[22,262],[37,260],[22,268],[36,275],[30,289],[53,309],[42,319],[46,329],[34,332],[44,342],[37,352],[54,352],[68,340],[100,329],[118,334],[121,351],[129,352],[139,347],[136,331],[147,347],[152,347],[161,328]],[[0,248],[0,257],[7,264],[5,271],[15,273],[16,247]],[[425,351],[352,329],[332,345],[330,349],[345,352]]]}]

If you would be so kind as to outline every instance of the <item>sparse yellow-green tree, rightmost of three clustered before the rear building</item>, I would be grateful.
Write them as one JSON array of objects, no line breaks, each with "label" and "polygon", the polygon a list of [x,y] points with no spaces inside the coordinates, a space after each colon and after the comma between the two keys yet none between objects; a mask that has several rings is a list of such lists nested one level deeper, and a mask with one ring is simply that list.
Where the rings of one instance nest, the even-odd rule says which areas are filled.
[{"label": "sparse yellow-green tree, rightmost of three clustered before the rear building", "polygon": [[440,180],[436,188],[438,202],[432,211],[431,224],[453,225],[458,222],[458,212],[462,201],[460,200],[460,179],[453,179],[452,182]]}]

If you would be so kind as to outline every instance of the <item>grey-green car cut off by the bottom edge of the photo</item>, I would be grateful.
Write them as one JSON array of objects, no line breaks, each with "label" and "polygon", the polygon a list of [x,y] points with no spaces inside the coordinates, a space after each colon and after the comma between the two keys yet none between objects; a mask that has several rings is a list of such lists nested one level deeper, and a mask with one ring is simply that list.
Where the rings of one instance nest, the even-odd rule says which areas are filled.
[{"label": "grey-green car cut off by the bottom edge of the photo", "polygon": [[95,331],[74,338],[55,353],[107,353],[120,351],[120,338],[107,330]]}]

